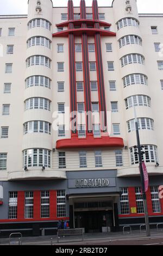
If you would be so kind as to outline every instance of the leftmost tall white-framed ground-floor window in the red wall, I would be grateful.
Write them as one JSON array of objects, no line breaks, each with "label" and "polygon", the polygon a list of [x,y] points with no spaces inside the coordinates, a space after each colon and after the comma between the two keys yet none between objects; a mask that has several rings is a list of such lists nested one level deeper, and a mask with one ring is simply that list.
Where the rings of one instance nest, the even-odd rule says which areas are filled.
[{"label": "leftmost tall white-framed ground-floor window in the red wall", "polygon": [[17,218],[17,192],[9,192],[9,219]]}]

